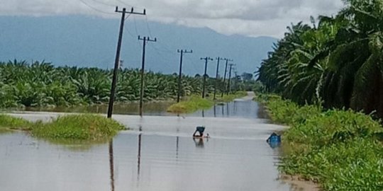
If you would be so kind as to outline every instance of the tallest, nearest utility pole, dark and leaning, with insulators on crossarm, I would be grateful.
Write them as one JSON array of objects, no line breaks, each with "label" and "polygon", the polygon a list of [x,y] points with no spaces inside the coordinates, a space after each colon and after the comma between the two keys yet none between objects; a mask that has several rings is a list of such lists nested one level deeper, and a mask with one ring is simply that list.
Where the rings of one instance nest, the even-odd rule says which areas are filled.
[{"label": "tallest, nearest utility pole, dark and leaning, with insulators on crossarm", "polygon": [[146,15],[145,9],[144,9],[143,13],[135,13],[133,11],[133,8],[131,9],[131,11],[126,11],[126,8],[123,8],[122,11],[118,11],[118,6],[116,6],[115,12],[116,13],[122,13],[122,14],[121,14],[120,32],[118,33],[116,59],[114,61],[113,79],[112,79],[112,84],[111,84],[111,95],[109,97],[108,118],[111,118],[111,115],[113,113],[114,94],[116,92],[118,62],[120,60],[121,42],[122,42],[122,37],[123,37],[123,23],[125,23],[125,14],[129,13],[129,14],[137,14],[137,15]]}]

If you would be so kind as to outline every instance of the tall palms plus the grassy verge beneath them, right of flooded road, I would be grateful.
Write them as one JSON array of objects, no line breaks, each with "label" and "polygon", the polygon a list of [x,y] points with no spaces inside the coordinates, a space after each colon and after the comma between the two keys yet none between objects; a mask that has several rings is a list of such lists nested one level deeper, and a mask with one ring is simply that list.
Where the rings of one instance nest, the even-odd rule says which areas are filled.
[{"label": "tall palms plus the grassy verge beneath them, right of flooded road", "polygon": [[344,0],[297,23],[259,71],[259,96],[282,135],[289,175],[323,190],[383,190],[383,1]]}]

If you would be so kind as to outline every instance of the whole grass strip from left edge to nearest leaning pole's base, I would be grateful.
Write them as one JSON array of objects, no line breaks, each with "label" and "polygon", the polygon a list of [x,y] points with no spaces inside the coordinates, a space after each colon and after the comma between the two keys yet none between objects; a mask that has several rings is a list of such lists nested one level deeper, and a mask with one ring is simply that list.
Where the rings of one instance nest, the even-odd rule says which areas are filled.
[{"label": "whole grass strip from left edge to nearest leaning pole's base", "polygon": [[0,129],[26,130],[43,139],[107,141],[124,129],[115,120],[101,115],[64,115],[52,122],[29,122],[10,115],[0,115]]}]

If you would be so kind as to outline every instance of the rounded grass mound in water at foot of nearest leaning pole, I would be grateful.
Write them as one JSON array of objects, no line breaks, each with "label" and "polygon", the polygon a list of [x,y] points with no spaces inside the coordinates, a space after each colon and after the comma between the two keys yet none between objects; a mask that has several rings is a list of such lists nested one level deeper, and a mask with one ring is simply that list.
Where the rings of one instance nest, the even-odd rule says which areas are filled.
[{"label": "rounded grass mound in water at foot of nearest leaning pole", "polygon": [[45,139],[106,141],[121,129],[123,125],[101,115],[64,115],[52,122],[36,122],[31,133]]}]

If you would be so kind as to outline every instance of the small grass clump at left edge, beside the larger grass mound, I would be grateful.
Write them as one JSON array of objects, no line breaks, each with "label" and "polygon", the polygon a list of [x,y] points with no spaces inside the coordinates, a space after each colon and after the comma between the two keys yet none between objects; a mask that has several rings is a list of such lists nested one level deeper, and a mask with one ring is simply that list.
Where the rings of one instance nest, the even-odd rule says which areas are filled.
[{"label": "small grass clump at left edge, beside the larger grass mound", "polygon": [[29,129],[32,123],[19,117],[0,114],[0,129]]}]

